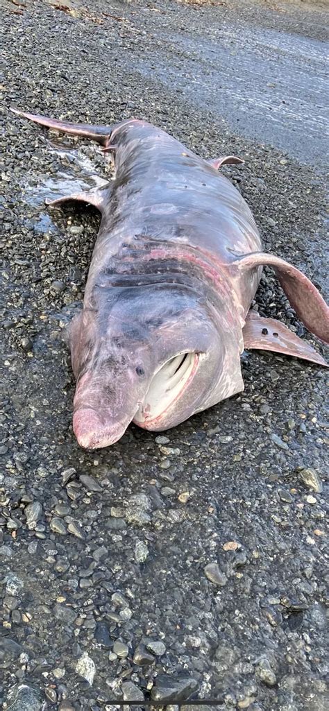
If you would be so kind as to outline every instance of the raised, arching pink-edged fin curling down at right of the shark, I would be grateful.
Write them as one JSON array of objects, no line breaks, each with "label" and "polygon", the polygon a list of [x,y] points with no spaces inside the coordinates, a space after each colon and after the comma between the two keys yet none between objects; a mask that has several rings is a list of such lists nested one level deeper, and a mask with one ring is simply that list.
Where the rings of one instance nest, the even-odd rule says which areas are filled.
[{"label": "raised, arching pink-edged fin curling down at right of the shark", "polygon": [[233,265],[239,272],[261,266],[273,267],[298,318],[303,321],[310,333],[314,333],[321,341],[329,343],[329,307],[318,289],[299,269],[279,257],[266,255],[265,252],[241,255]]}]

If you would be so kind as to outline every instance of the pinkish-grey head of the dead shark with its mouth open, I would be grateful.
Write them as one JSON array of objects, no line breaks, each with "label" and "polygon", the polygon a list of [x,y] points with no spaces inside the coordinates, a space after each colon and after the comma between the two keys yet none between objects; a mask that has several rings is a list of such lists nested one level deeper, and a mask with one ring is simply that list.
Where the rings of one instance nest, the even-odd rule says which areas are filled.
[{"label": "pinkish-grey head of the dead shark with its mouth open", "polygon": [[242,389],[239,349],[236,360],[231,335],[193,292],[170,285],[105,301],[103,294],[97,309],[75,319],[73,430],[81,447],[108,447],[132,421],[169,429],[237,392],[237,382]]}]

